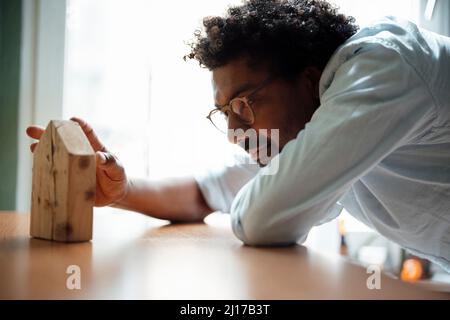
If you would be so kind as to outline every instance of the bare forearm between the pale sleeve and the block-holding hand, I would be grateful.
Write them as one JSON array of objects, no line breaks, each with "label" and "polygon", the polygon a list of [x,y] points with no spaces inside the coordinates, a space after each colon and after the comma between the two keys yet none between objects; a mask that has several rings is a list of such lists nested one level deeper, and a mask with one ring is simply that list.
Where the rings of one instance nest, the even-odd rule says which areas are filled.
[{"label": "bare forearm between the pale sleeve and the block-holding hand", "polygon": [[194,178],[130,179],[125,197],[112,205],[170,221],[201,221],[213,210]]}]

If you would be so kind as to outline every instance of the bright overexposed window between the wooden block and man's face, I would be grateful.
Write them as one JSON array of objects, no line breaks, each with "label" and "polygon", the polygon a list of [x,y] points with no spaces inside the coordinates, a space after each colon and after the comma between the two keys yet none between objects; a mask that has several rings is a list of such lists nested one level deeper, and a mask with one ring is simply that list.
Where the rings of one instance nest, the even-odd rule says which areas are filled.
[{"label": "bright overexposed window between the wooden block and man's face", "polygon": [[130,176],[219,165],[231,147],[205,118],[210,73],[183,56],[201,19],[230,3],[69,0],[64,117],[89,121]]}]

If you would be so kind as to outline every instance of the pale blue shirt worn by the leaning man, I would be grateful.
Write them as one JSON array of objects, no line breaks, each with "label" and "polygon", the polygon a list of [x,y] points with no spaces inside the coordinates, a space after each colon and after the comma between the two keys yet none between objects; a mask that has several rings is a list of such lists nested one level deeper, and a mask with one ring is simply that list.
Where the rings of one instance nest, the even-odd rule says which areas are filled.
[{"label": "pale blue shirt worn by the leaning man", "polygon": [[362,28],[328,62],[320,101],[276,174],[198,176],[208,204],[251,245],[304,241],[345,207],[450,272],[450,38],[392,17]]}]

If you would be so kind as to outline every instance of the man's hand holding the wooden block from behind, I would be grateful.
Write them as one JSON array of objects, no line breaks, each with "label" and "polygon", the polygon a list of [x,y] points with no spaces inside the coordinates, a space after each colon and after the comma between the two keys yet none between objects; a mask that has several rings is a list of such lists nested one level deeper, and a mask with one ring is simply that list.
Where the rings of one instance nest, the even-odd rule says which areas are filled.
[{"label": "man's hand holding the wooden block from behind", "polygon": [[[77,122],[88,138],[96,157],[97,187],[95,192],[95,205],[98,207],[114,204],[125,197],[128,191],[128,179],[120,161],[109,152],[100,142],[92,127],[80,118],[71,118]],[[26,130],[27,135],[39,140],[45,129],[32,125]],[[39,142],[30,145],[34,152]]]}]

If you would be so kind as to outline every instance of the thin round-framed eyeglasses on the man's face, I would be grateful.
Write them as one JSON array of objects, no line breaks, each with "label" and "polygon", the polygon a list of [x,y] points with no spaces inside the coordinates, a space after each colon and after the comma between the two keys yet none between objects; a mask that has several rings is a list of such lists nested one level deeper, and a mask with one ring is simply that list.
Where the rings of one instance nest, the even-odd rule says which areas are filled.
[{"label": "thin round-framed eyeglasses on the man's face", "polygon": [[226,133],[228,130],[230,114],[236,116],[240,122],[252,125],[255,122],[255,112],[251,107],[253,103],[251,97],[272,82],[272,80],[273,77],[269,77],[245,97],[233,98],[227,105],[211,110],[206,118],[222,133]]}]

